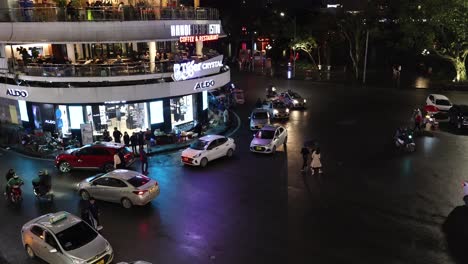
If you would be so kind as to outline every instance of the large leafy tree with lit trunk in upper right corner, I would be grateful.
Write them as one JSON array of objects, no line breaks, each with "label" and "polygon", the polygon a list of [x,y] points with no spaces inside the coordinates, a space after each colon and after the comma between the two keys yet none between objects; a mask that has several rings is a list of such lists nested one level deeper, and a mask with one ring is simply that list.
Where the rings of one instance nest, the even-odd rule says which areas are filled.
[{"label": "large leafy tree with lit trunk in upper right corner", "polygon": [[408,45],[449,61],[455,81],[467,81],[468,8],[464,0],[405,0],[402,31]]}]

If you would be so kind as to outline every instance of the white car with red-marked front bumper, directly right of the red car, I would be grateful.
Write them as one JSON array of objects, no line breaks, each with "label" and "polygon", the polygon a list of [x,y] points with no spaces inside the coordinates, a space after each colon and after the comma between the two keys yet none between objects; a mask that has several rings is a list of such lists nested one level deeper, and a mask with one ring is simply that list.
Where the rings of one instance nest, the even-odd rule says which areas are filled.
[{"label": "white car with red-marked front bumper, directly right of the red car", "polygon": [[220,157],[231,157],[236,150],[234,139],[219,135],[208,135],[197,139],[180,157],[183,164],[205,167],[209,161]]}]

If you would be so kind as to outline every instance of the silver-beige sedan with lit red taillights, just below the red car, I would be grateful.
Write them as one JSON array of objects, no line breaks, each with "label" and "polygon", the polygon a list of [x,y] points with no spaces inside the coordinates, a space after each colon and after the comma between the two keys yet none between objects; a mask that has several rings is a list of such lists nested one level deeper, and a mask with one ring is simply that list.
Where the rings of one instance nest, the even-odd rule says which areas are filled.
[{"label": "silver-beige sedan with lit red taillights, just below the red car", "polygon": [[131,170],[114,170],[87,178],[78,184],[81,198],[120,203],[125,208],[145,205],[160,193],[157,181]]}]

